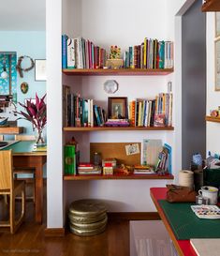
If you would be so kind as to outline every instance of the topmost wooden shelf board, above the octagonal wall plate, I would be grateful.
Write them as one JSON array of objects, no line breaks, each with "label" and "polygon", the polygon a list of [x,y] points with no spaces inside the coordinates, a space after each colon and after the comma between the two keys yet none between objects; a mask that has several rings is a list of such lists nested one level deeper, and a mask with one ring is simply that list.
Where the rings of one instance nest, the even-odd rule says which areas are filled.
[{"label": "topmost wooden shelf board, above the octagonal wall plate", "polygon": [[96,68],[96,69],[63,69],[63,73],[69,76],[161,76],[173,72],[173,68]]}]

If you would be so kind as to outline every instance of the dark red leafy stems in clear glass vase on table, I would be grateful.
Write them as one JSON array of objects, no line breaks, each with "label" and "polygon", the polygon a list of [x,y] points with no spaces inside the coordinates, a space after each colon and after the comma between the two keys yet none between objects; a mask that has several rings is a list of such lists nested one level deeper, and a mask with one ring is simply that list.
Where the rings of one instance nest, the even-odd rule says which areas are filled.
[{"label": "dark red leafy stems in clear glass vase on table", "polygon": [[26,99],[24,104],[19,102],[25,112],[15,112],[22,115],[22,117],[18,119],[24,119],[31,122],[33,128],[37,130],[36,144],[38,146],[45,145],[45,141],[43,138],[43,128],[45,128],[47,124],[47,105],[44,101],[45,98],[46,94],[43,96],[43,98],[38,98],[36,94],[35,100],[33,100],[32,98]]}]

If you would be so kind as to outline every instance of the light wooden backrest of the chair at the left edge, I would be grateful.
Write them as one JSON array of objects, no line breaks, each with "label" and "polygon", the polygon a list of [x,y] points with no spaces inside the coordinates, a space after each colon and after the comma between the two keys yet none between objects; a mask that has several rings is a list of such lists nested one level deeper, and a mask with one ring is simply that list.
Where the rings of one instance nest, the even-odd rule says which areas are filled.
[{"label": "light wooden backrest of the chair at the left edge", "polygon": [[13,189],[11,150],[0,150],[0,189]]}]

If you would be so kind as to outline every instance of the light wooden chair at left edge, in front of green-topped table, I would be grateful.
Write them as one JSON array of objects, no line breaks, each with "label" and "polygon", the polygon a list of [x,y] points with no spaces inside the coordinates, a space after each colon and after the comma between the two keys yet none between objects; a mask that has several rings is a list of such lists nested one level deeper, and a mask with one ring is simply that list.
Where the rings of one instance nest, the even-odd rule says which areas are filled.
[{"label": "light wooden chair at left edge, in front of green-topped table", "polygon": [[[15,233],[22,224],[25,213],[25,182],[13,180],[13,162],[11,150],[0,151],[0,194],[7,195],[9,201],[9,220],[0,221],[0,227],[10,227],[10,233]],[[22,195],[21,216],[15,219],[15,197]],[[7,205],[7,204],[6,204]]]}]

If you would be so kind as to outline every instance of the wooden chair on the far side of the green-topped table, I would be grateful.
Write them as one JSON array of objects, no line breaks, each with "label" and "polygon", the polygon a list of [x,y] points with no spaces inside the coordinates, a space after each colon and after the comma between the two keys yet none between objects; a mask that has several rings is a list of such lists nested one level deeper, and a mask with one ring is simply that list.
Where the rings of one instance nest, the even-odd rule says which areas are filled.
[{"label": "wooden chair on the far side of the green-topped table", "polygon": [[[15,135],[15,141],[35,141],[36,137],[34,135]],[[33,202],[36,202],[36,186],[35,186],[35,175],[36,175],[36,170],[35,168],[24,168],[24,167],[16,167],[14,168],[14,178],[15,179],[22,179],[22,177],[19,177],[20,174],[32,174],[31,178],[32,181],[34,181],[33,185],[33,196],[27,197],[26,199],[31,199]],[[25,178],[24,178],[25,179]],[[27,179],[26,179],[27,181]]]}]

